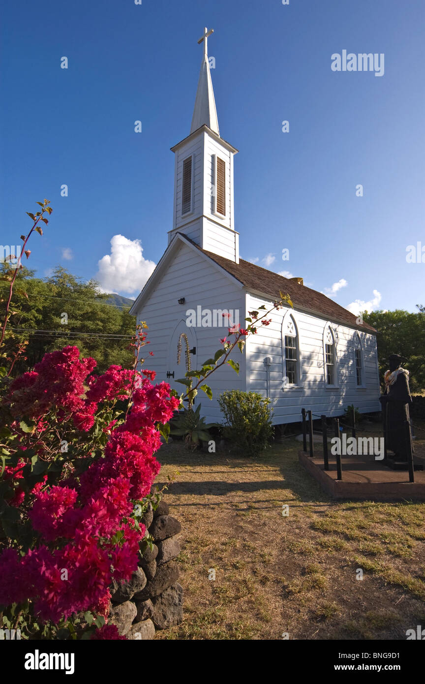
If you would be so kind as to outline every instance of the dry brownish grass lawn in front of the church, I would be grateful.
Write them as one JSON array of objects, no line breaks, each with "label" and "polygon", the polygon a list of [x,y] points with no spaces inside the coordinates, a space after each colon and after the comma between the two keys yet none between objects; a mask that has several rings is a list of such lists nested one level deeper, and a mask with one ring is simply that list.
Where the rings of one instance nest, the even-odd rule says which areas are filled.
[{"label": "dry brownish grass lawn in front of the church", "polygon": [[248,460],[161,447],[159,484],[180,473],[167,502],[184,621],[156,639],[405,640],[425,627],[425,503],[335,503],[299,448],[287,438]]}]

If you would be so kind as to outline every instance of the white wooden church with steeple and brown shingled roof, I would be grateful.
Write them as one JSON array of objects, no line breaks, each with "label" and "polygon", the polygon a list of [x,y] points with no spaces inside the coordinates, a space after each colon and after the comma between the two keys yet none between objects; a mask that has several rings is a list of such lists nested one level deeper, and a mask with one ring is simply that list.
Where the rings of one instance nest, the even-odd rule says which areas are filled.
[{"label": "white wooden church with steeple and brown shingled roof", "polygon": [[[239,259],[234,218],[233,163],[238,150],[219,133],[205,29],[198,41],[204,57],[191,130],[176,144],[174,217],[168,246],[131,308],[146,321],[156,381],[176,383],[187,370],[214,355],[233,323],[245,327],[248,311],[273,306],[279,291],[294,308],[273,313],[272,323],[247,337],[237,375],[228,365],[209,378],[213,400],[200,392],[202,415],[221,422],[217,396],[226,389],[270,397],[273,423],[298,422],[301,408],[316,415],[341,415],[348,404],[374,412],[379,404],[376,335],[367,324],[325,295]],[[189,354],[186,352],[189,350]],[[284,380],[286,378],[286,380]],[[200,396],[202,395],[202,396]]]}]

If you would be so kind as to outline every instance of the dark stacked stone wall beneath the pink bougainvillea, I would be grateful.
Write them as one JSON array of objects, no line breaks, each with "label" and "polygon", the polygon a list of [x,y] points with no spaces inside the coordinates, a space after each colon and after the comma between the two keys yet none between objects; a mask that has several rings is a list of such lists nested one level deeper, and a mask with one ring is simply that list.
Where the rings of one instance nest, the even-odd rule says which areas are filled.
[{"label": "dark stacked stone wall beneath the pink bougainvillea", "polygon": [[167,629],[183,619],[183,589],[178,583],[176,557],[180,544],[176,535],[181,525],[169,515],[162,499],[155,511],[152,505],[141,518],[154,538],[130,581],[111,586],[108,623],[116,624],[127,639],[153,639],[156,629]]}]

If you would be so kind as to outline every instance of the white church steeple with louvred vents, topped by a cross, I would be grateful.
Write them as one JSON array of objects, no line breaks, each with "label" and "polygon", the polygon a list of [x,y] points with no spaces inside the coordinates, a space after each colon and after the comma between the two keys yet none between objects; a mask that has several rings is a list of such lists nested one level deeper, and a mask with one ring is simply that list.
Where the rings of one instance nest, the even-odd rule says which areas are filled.
[{"label": "white church steeple with louvred vents, topped by a cross", "polygon": [[168,241],[176,233],[190,237],[207,252],[239,263],[239,235],[234,229],[233,157],[238,150],[223,140],[215,109],[204,29],[204,57],[197,84],[191,132],[172,147],[174,217]]}]

